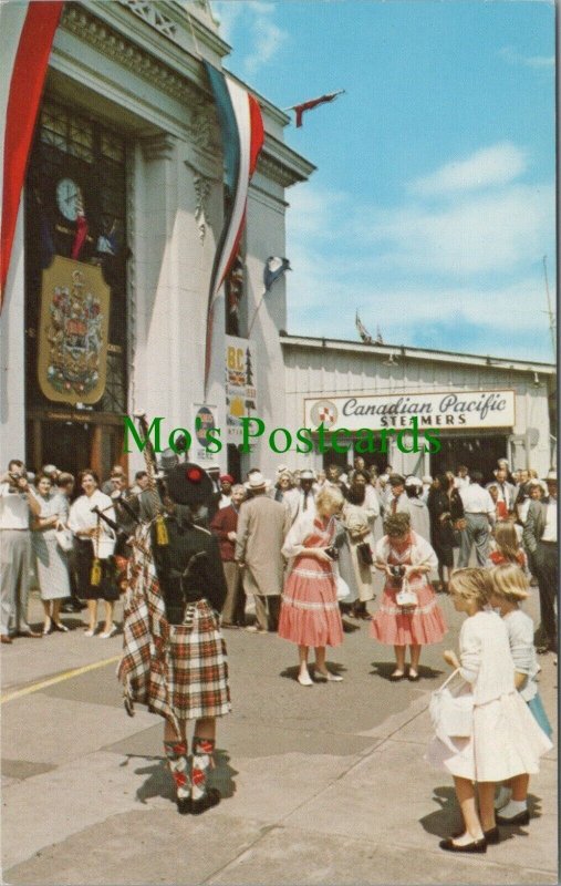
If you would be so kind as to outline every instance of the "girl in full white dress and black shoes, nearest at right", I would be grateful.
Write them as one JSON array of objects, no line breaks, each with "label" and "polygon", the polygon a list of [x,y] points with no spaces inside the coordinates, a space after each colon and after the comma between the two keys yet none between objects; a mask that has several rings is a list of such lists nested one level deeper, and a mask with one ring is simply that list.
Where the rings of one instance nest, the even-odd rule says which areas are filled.
[{"label": "girl in full white dress and black shoes, nearest at right", "polygon": [[[459,660],[447,650],[444,659],[459,668],[474,696],[472,734],[453,739],[451,750],[435,738],[429,762],[454,776],[465,832],[443,839],[448,852],[486,852],[499,842],[495,820],[495,785],[539,772],[539,758],[552,748],[515,686],[515,662],[505,622],[486,610],[492,590],[486,569],[457,569],[450,578],[454,608],[468,616],[459,635]],[[477,814],[475,782],[478,785]]]}]

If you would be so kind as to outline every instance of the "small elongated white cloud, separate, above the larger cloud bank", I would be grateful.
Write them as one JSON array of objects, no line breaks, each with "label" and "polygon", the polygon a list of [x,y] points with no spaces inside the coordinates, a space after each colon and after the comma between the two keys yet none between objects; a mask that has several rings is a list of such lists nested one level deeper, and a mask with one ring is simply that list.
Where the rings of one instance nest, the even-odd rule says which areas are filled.
[{"label": "small elongated white cloud, separate, above the larger cloud bank", "polygon": [[505,185],[524,172],[527,155],[505,142],[476,151],[461,161],[453,161],[408,185],[419,196],[455,195],[466,190]]}]

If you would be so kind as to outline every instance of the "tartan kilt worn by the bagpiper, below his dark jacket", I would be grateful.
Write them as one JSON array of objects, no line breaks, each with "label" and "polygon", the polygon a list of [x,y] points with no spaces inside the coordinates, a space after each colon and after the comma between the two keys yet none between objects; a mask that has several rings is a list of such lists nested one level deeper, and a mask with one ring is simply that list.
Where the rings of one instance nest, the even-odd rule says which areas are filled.
[{"label": "tartan kilt worn by the bagpiper, below his dark jacket", "polygon": [[186,624],[169,625],[167,689],[178,720],[229,713],[226,643],[206,600],[188,606]]}]

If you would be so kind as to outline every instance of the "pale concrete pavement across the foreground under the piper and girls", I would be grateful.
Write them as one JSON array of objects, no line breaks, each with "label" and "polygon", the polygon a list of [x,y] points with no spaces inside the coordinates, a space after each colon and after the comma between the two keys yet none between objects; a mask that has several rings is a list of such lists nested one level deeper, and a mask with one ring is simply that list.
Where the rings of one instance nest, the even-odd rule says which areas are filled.
[{"label": "pale concrete pavement across the foreground under the piper and girls", "polygon": [[[443,607],[451,622],[448,604],[444,600]],[[60,689],[6,705],[4,751],[6,736],[13,744],[18,730],[25,759],[35,765],[34,772],[13,771],[4,781],[6,883],[558,882],[555,751],[542,759],[541,772],[532,779],[529,827],[502,828],[501,844],[490,846],[482,856],[443,853],[438,841],[459,825],[459,811],[451,777],[430,770],[423,760],[430,736],[427,704],[435,680],[391,684],[393,697],[402,692],[405,700],[397,712],[375,717],[372,696],[366,711],[349,723],[346,713],[337,717],[337,696],[333,694],[352,692],[349,682],[302,690],[292,679],[279,681],[274,662],[269,688],[268,662],[278,655],[285,657],[287,647],[278,638],[242,635],[236,632],[230,641],[238,661],[236,679],[251,693],[248,674],[258,668],[266,694],[254,707],[259,714],[262,705],[263,719],[260,722],[243,705],[236,717],[225,719],[219,748],[228,748],[231,756],[218,752],[212,776],[224,799],[200,818],[179,816],[175,810],[159,750],[159,719],[143,711],[132,720],[122,712],[116,717],[114,708],[121,704],[116,686],[110,699],[95,698],[98,687],[114,673],[113,664],[107,672],[102,669],[95,677],[80,678],[79,699],[70,689]],[[67,639],[61,638],[61,647]],[[75,642],[82,639],[76,637]],[[352,642],[347,641],[344,656],[349,670]],[[366,642],[363,633],[354,643],[356,655]],[[454,646],[454,639],[448,637],[446,645]],[[38,641],[37,655],[39,647]],[[118,652],[120,638],[106,641],[104,649],[107,655]],[[441,650],[435,650],[434,661],[437,655]],[[557,722],[557,668],[551,655],[540,661],[541,692],[551,721]],[[436,684],[440,681],[441,677],[436,678]],[[374,681],[376,687],[382,683]],[[276,702],[271,692],[282,708],[277,723],[266,713],[267,704]],[[344,698],[339,696],[341,711]],[[364,708],[364,688],[360,698]],[[330,723],[320,728],[315,705],[323,703],[332,704],[333,712]],[[58,742],[46,750],[50,740],[42,728],[53,709],[51,738]],[[367,728],[368,721],[376,720],[376,725]],[[76,723],[79,730],[73,728]],[[557,733],[554,742],[557,748]]]}]

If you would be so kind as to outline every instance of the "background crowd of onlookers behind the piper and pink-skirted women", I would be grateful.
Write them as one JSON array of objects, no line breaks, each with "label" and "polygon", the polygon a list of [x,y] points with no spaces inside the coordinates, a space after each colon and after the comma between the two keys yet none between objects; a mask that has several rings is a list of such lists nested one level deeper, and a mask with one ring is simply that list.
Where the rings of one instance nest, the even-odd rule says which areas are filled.
[{"label": "background crowd of onlookers behind the piper and pink-skirted women", "polygon": [[[177,460],[174,454],[167,456],[167,462],[164,459],[164,473]],[[419,556],[417,548],[423,546],[425,565],[420,573],[430,593],[449,590],[451,570],[455,565],[468,566],[474,548],[481,567],[505,559],[518,562],[531,585],[539,588],[538,651],[557,647],[555,472],[549,472],[546,478],[539,478],[531,470],[510,474],[508,464],[500,461],[495,480],[484,485],[482,475],[469,472],[465,465],[434,478],[402,476],[391,465],[383,473],[376,467],[367,468],[359,455],[346,471],[334,464],[318,473],[279,465],[277,476],[268,480],[258,468],[251,468],[245,483],[236,483],[229,474],[220,475],[217,465],[210,466],[208,473],[212,494],[202,523],[219,542],[228,588],[221,617],[225,628],[247,627],[261,633],[278,630],[281,598],[288,597],[285,583],[291,576],[294,581],[294,543],[289,530],[308,525],[322,491],[336,490],[342,499],[330,532],[337,578],[347,587],[339,606],[343,631],[356,630],[356,621],[373,618],[368,606],[385,594],[387,581],[401,579],[395,574],[389,576],[389,570],[395,573],[398,565],[408,569],[412,565],[397,563],[402,559],[396,553],[401,534],[402,539],[409,535],[417,539],[415,556]],[[138,471],[129,484],[121,465],[115,465],[101,484],[91,470],[74,478],[54,465],[45,465],[33,475],[20,460],[10,462],[8,472],[0,477],[2,642],[17,635],[38,637],[65,631],[61,614],[85,608],[87,636],[105,639],[117,631],[113,614],[123,590],[126,540],[134,529],[135,515],[143,516],[147,486],[146,471]],[[97,512],[114,524],[113,529]],[[408,524],[394,521],[388,533],[387,519],[402,514],[408,517]],[[407,559],[406,544],[404,550]],[[41,632],[27,621],[32,566],[44,607]],[[416,570],[417,578],[420,573]],[[405,578],[411,584],[409,575]],[[246,626],[247,596],[253,599],[256,620]],[[100,600],[104,601],[104,619],[98,631]],[[389,636],[381,630],[388,607],[387,595],[382,596],[372,626],[377,639]],[[423,604],[420,609],[425,608]],[[433,608],[438,611],[436,604]],[[415,660],[416,656],[415,652]],[[397,671],[401,670],[399,666]],[[411,670],[416,679],[416,667]]]}]

